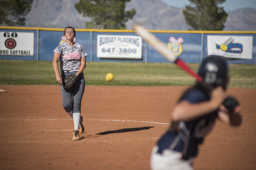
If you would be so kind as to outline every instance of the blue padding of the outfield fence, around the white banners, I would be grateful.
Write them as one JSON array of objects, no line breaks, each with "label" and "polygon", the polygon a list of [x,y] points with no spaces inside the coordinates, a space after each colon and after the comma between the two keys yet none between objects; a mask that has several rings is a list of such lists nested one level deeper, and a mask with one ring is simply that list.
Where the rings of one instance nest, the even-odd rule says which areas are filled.
[{"label": "blue padding of the outfield fence, around the white banners", "polygon": [[[61,30],[61,29],[57,29]],[[33,56],[10,56],[0,55],[0,59],[10,60],[39,60],[39,61],[52,61],[54,49],[59,45],[61,36],[64,31],[56,31],[52,29],[31,29],[20,27],[15,29],[0,28],[0,31],[6,32],[33,32],[34,33],[34,55]],[[39,32],[39,40],[37,44],[37,33]],[[166,31],[154,31],[154,35],[161,41],[168,45],[169,38],[173,36],[175,39],[182,37],[182,53],[178,56],[185,63],[200,63],[202,59],[207,56],[207,35],[229,35],[229,36],[252,36],[252,59],[230,59],[228,63],[232,64],[256,64],[256,33],[191,33],[184,32],[165,33]],[[92,37],[91,37],[92,35]],[[118,59],[118,58],[98,58],[97,57],[97,35],[137,35],[132,31],[76,31],[76,42],[83,45],[88,57],[86,61],[95,62],[139,62],[139,63],[169,63],[162,55],[153,49],[153,47],[142,41],[142,58],[141,59]],[[203,50],[202,50],[202,36],[203,36]],[[92,39],[92,42],[91,42]],[[37,49],[39,47],[39,50]],[[91,49],[92,48],[92,49]],[[91,51],[92,50],[92,51]],[[37,51],[38,54],[37,54]]]}]

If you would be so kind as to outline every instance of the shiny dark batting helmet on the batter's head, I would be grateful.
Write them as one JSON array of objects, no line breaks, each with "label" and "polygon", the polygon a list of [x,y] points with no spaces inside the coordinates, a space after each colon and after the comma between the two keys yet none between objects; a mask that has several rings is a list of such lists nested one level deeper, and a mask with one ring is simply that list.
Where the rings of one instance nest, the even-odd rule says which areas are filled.
[{"label": "shiny dark batting helmet on the batter's head", "polygon": [[207,56],[199,67],[198,75],[213,88],[222,86],[226,90],[228,86],[228,64],[221,56]]}]

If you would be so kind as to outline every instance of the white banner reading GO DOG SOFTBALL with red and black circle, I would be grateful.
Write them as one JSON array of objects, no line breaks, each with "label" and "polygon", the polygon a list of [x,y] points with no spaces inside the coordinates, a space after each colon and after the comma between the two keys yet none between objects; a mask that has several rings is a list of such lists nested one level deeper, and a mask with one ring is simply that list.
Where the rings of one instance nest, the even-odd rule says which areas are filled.
[{"label": "white banner reading GO DOG SOFTBALL with red and black circle", "polygon": [[0,32],[0,55],[34,55],[34,33]]}]

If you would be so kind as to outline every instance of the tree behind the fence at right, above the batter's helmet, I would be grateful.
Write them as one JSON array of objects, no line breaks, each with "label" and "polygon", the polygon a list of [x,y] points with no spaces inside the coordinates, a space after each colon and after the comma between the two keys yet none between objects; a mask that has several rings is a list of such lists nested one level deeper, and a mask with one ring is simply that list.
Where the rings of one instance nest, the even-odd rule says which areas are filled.
[{"label": "tree behind the fence at right, above the batter's helmet", "polygon": [[183,10],[186,24],[194,30],[222,30],[228,14],[218,7],[226,0],[189,0],[190,5]]}]

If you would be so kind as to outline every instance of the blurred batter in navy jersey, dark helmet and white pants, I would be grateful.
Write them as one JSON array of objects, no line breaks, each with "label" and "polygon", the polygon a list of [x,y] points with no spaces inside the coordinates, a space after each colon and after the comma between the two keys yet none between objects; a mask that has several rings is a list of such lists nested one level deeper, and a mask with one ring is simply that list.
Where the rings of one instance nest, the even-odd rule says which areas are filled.
[{"label": "blurred batter in navy jersey, dark helmet and white pants", "polygon": [[[216,118],[228,125],[241,123],[237,100],[226,96],[226,61],[220,56],[208,56],[198,74],[205,84],[196,83],[186,90],[174,107],[170,129],[152,149],[152,170],[192,170],[198,145],[212,130]],[[214,89],[209,90],[209,86]]]}]

